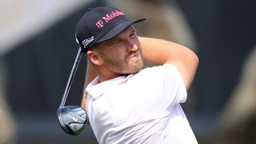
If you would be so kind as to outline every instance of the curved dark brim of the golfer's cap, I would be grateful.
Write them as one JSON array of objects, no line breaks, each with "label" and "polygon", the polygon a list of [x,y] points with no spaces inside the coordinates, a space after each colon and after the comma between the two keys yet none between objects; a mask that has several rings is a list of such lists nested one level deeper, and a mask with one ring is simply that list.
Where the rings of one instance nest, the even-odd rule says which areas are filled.
[{"label": "curved dark brim of the golfer's cap", "polygon": [[142,22],[146,20],[146,18],[141,18],[141,19],[133,19],[133,20],[127,20],[125,22],[122,22],[118,24],[118,26],[114,26],[112,30],[107,32],[102,38],[100,38],[97,42],[103,42],[106,41],[110,38],[114,38],[116,35],[120,34],[123,30],[125,30],[128,26],[137,23],[137,22]]}]

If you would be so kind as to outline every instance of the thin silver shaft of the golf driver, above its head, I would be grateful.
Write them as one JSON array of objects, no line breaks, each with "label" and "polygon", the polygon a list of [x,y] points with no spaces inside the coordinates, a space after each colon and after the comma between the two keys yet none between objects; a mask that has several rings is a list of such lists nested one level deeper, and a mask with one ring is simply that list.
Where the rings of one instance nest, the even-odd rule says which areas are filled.
[{"label": "thin silver shaft of the golf driver, above its head", "polygon": [[77,54],[77,56],[74,60],[74,65],[73,65],[72,70],[70,72],[70,78],[68,79],[68,81],[66,83],[66,89],[65,89],[63,97],[62,97],[62,103],[59,107],[63,107],[65,105],[67,95],[70,92],[70,87],[71,87],[72,82],[74,80],[74,75],[75,75],[76,71],[78,70],[78,65],[79,65],[79,62],[80,62],[81,58],[82,58],[82,49],[79,47],[78,54]]}]

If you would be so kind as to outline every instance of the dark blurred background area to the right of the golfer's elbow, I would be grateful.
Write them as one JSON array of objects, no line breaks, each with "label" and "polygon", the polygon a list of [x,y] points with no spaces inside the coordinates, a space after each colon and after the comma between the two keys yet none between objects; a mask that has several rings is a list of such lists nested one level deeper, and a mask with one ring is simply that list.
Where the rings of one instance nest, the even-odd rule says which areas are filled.
[{"label": "dark blurred background area to the right of the golfer's elbow", "polygon": [[256,2],[178,0],[198,44],[200,59],[194,89],[196,125],[214,129],[218,115],[241,76],[256,44]]}]

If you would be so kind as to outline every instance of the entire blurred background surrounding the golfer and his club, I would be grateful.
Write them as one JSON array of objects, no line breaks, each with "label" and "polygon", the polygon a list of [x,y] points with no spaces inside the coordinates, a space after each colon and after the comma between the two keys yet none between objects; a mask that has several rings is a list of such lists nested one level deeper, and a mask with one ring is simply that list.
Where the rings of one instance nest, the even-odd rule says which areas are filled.
[{"label": "entire blurred background surrounding the golfer and his club", "polygon": [[[97,143],[70,136],[56,110],[78,51],[74,31],[90,7],[147,18],[138,34],[189,47],[200,63],[182,106],[199,143],[256,143],[256,1],[2,0],[0,144]],[[86,58],[66,105],[80,105]]]}]

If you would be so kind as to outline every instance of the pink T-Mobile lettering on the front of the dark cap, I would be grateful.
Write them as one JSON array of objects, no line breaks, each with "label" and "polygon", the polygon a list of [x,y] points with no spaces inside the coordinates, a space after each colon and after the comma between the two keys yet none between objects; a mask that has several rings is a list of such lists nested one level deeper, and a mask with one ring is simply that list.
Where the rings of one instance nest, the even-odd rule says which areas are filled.
[{"label": "pink T-Mobile lettering on the front of the dark cap", "polygon": [[118,17],[118,16],[121,16],[121,15],[126,15],[126,14],[123,14],[121,11],[119,10],[115,10],[115,11],[112,11],[110,14],[106,14],[106,16],[102,17],[101,20],[99,20],[98,22],[96,22],[96,26],[98,26],[98,28],[102,28],[104,26],[104,23],[106,22],[110,22],[111,19],[115,18],[115,17]]}]

